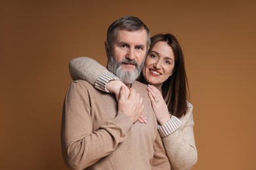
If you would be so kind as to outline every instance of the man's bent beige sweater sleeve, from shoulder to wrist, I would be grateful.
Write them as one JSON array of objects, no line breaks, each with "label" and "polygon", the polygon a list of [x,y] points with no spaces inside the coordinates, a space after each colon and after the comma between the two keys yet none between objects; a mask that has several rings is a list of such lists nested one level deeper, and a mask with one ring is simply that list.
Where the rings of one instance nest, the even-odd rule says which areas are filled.
[{"label": "man's bent beige sweater sleeve, from shoulder to wrist", "polygon": [[133,122],[125,115],[106,121],[93,131],[88,91],[75,81],[70,84],[62,115],[62,153],[72,169],[85,169],[111,154],[125,140]]}]

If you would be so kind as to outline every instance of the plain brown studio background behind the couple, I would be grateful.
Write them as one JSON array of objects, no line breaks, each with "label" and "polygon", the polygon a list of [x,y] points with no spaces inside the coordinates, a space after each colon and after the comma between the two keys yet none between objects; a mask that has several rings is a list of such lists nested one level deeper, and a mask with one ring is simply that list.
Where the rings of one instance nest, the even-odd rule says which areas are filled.
[{"label": "plain brown studio background behind the couple", "polygon": [[10,0],[0,8],[0,169],[66,169],[68,61],[91,56],[106,65],[106,29],[125,15],[181,43],[196,123],[193,169],[256,169],[253,1]]}]

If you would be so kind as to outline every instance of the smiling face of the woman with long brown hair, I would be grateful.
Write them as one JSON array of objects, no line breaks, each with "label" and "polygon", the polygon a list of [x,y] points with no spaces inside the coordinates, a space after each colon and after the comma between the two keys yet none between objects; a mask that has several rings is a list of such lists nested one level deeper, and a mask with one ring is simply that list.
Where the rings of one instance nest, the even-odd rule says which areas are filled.
[{"label": "smiling face of the woman with long brown hair", "polygon": [[161,86],[172,75],[174,66],[173,49],[167,42],[159,41],[148,53],[142,75],[148,84]]}]

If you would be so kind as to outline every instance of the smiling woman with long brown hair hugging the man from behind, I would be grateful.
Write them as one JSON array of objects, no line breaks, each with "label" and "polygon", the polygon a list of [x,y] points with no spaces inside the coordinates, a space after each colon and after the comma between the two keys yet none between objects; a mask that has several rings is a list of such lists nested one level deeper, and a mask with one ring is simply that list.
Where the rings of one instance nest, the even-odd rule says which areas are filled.
[{"label": "smiling woman with long brown hair hugging the man from behind", "polygon": [[[95,70],[88,69],[95,67]],[[95,88],[106,92],[110,90],[116,96],[123,85],[116,76],[90,58],[72,59],[70,73],[73,79],[85,79],[95,84]],[[171,169],[191,169],[198,158],[193,107],[187,101],[188,82],[181,46],[173,35],[158,34],[151,38],[139,81],[150,84],[148,95]],[[140,117],[140,122],[146,123],[146,118]]]}]

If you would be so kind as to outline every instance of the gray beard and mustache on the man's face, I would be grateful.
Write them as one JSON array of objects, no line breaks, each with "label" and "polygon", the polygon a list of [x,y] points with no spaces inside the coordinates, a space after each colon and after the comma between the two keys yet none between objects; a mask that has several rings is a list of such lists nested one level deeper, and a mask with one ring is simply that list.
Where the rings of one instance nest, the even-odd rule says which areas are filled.
[{"label": "gray beard and mustache on the man's face", "polygon": [[[121,65],[123,63],[132,63],[135,64],[136,69],[135,71],[123,71],[121,69]],[[138,76],[140,75],[140,72],[142,71],[142,68],[144,66],[144,61],[139,66],[137,61],[124,58],[121,62],[116,63],[115,59],[112,56],[109,56],[108,58],[108,71],[111,71],[116,75],[124,84],[131,84],[133,83]]]}]

